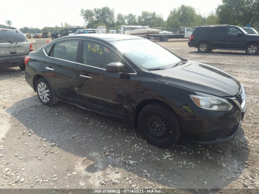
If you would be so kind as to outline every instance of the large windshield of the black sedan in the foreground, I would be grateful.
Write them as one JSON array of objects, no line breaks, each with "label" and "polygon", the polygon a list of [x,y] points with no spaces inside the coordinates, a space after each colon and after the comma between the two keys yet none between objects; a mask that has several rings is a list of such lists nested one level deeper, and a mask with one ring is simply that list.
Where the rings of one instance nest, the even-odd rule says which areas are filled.
[{"label": "large windshield of the black sedan in the foreground", "polygon": [[120,40],[112,44],[143,69],[169,69],[181,61],[165,48],[147,39]]}]

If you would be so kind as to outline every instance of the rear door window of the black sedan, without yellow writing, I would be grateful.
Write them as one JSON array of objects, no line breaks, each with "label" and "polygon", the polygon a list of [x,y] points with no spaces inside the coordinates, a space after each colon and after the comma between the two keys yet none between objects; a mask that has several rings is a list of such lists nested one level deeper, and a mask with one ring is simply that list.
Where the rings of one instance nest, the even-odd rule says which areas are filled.
[{"label": "rear door window of the black sedan, without yellow writing", "polygon": [[65,40],[55,44],[53,57],[76,62],[78,40]]}]

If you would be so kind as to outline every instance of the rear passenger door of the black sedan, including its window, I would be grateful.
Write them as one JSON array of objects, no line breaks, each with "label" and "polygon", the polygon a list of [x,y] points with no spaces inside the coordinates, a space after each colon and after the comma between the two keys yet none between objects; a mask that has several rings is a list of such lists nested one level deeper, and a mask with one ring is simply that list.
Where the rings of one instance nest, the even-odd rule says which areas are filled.
[{"label": "rear passenger door of the black sedan, including its window", "polygon": [[[78,98],[77,50],[79,40],[56,42],[44,61],[44,75],[58,95],[75,101]],[[47,49],[46,47],[45,52]]]}]

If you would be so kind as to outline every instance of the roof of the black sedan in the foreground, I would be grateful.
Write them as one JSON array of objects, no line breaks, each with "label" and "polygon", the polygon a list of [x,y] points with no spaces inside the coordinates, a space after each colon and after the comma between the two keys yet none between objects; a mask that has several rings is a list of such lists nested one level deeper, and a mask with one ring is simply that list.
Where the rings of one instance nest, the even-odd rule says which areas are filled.
[{"label": "roof of the black sedan in the foreground", "polygon": [[[125,34],[101,34],[101,33],[94,33],[94,34],[80,34],[80,35],[71,35],[71,36],[80,36],[80,38],[87,38],[86,36],[92,36],[96,38],[101,38],[103,40],[112,42],[117,40],[130,40],[130,39],[144,39],[138,36],[132,36],[132,35],[125,35]],[[70,36],[70,37],[71,37]],[[66,36],[64,36],[66,37]]]}]

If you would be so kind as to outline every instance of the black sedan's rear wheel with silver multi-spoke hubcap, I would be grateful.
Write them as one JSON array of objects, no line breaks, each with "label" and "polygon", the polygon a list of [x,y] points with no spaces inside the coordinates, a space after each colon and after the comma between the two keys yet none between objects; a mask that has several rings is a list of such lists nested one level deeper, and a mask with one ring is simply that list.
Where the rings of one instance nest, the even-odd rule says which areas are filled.
[{"label": "black sedan's rear wheel with silver multi-spoke hubcap", "polygon": [[56,99],[54,90],[51,88],[46,78],[40,78],[36,82],[36,91],[41,103],[46,106],[52,106],[59,102]]}]

